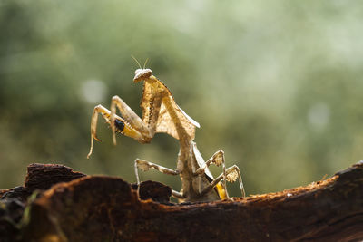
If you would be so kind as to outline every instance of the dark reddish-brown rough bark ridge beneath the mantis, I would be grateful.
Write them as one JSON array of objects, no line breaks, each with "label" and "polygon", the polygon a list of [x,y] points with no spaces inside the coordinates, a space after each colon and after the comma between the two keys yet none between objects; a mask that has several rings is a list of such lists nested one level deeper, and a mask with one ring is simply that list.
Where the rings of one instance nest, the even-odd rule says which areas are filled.
[{"label": "dark reddish-brown rough bark ridge beneath the mantis", "polygon": [[[38,167],[40,170],[42,165]],[[44,165],[43,165],[44,166]],[[64,181],[53,167],[55,180]],[[49,171],[50,172],[50,171]],[[45,174],[46,172],[38,173]],[[25,241],[359,241],[363,239],[363,162],[306,187],[209,203],[172,204],[171,189],[106,176],[43,189],[25,209]],[[46,173],[48,174],[48,173]],[[64,174],[64,173],[63,173]],[[41,176],[40,176],[41,177]],[[38,177],[39,180],[42,180]],[[48,180],[47,184],[54,184]],[[33,185],[32,185],[33,186]],[[6,193],[5,193],[6,194]],[[3,197],[5,196],[3,193]],[[0,194],[1,196],[1,194]],[[153,200],[152,200],[153,199]],[[158,201],[158,202],[157,202]],[[1,219],[0,219],[1,221]],[[1,224],[0,224],[1,225]],[[0,237],[1,238],[1,237]],[[1,239],[0,239],[1,240]],[[2,240],[1,240],[2,241]],[[10,241],[10,240],[9,240]]]}]

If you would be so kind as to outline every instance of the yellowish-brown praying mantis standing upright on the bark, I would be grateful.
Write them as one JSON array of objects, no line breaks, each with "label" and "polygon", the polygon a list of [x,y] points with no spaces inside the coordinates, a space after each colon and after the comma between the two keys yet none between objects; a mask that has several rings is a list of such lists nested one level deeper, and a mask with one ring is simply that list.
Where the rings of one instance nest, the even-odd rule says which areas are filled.
[{"label": "yellowish-brown praying mantis standing upright on the bark", "polygon": [[[100,104],[94,107],[91,119],[91,148],[87,158],[93,152],[93,140],[100,141],[96,136],[100,113],[112,128],[114,144],[116,144],[116,133],[131,137],[142,144],[150,143],[155,133],[159,132],[165,132],[179,140],[180,150],[176,169],[165,168],[147,160],[134,161],[138,185],[140,185],[139,169],[142,171],[157,169],[164,174],[181,177],[182,190],[178,192],[172,189],[172,197],[180,201],[212,201],[230,198],[226,182],[234,182],[237,179],[240,182],[242,197],[245,197],[240,169],[236,165],[226,169],[223,150],[215,152],[209,160],[203,160],[201,152],[193,141],[195,130],[200,128],[200,124],[182,111],[166,85],[152,75],[151,69],[140,66],[140,69],[135,71],[133,82],[142,81],[142,118],[117,95],[112,98],[111,111]],[[116,115],[116,109],[120,111],[121,116]],[[222,166],[221,175],[215,179],[208,169],[211,164]]]}]

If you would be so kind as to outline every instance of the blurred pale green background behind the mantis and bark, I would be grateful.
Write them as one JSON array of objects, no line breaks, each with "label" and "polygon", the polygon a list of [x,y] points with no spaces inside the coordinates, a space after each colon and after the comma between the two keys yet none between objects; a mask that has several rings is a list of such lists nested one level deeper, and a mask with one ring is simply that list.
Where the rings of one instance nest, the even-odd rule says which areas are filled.
[{"label": "blurred pale green background behind the mantis and bark", "polygon": [[[248,194],[345,169],[363,157],[362,19],[359,1],[2,0],[0,189],[22,184],[32,162],[130,182],[135,158],[175,168],[177,140],[118,137],[114,147],[103,121],[86,159],[96,104],[117,94],[141,115],[131,55],[150,59],[201,123],[204,159],[224,150]],[[156,171],[141,176],[181,187]]]}]

